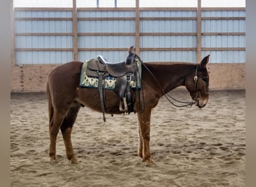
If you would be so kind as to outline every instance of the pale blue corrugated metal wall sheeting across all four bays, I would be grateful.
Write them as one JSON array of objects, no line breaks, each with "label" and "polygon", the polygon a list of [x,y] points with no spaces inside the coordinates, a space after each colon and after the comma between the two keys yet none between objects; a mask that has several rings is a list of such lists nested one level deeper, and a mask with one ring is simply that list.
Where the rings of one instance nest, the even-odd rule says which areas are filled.
[{"label": "pale blue corrugated metal wall sheeting across all four bays", "polygon": [[[73,61],[73,9],[22,10],[15,16],[15,63]],[[246,11],[202,10],[201,55],[211,62],[246,62]],[[196,10],[141,10],[143,61],[197,61]],[[134,10],[78,10],[78,58],[122,61],[135,46]]]}]

